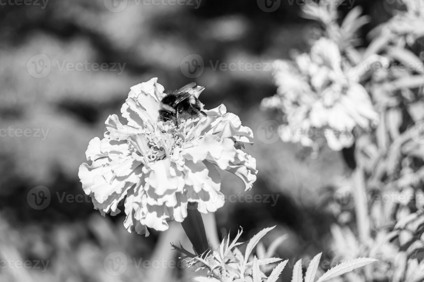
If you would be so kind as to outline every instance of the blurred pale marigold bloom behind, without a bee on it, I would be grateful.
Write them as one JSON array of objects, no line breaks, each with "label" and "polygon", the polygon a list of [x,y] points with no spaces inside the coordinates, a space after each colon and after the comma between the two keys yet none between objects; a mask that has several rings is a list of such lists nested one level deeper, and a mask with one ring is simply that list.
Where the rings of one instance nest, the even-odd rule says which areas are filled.
[{"label": "blurred pale marigold bloom behind, without a bee on it", "polygon": [[377,123],[367,91],[343,68],[346,60],[335,42],[320,38],[294,63],[277,61],[277,94],[262,100],[262,107],[285,113],[279,128],[283,141],[318,149],[317,140],[325,137],[339,151],[353,144],[356,126],[368,129]]}]

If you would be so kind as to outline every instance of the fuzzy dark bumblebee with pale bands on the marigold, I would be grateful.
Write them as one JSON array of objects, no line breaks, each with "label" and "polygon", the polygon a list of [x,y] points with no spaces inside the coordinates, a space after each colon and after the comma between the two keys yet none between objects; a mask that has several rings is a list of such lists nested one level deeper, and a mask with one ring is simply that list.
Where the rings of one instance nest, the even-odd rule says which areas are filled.
[{"label": "fuzzy dark bumblebee with pale bands on the marigold", "polygon": [[166,93],[159,104],[159,120],[172,120],[177,126],[180,119],[207,116],[203,104],[197,99],[205,88],[195,82],[184,85],[178,90]]}]

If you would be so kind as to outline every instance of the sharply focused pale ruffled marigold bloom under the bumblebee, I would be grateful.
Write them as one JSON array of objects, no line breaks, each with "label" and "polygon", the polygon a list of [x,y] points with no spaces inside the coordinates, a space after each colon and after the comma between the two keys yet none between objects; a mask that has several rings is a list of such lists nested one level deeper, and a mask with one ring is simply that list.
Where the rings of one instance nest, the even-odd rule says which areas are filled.
[{"label": "sharply focused pale ruffled marigold bloom under the bumblebee", "polygon": [[245,189],[256,180],[256,160],[242,151],[253,133],[237,115],[220,105],[205,110],[207,117],[158,121],[164,88],[153,78],[131,87],[117,115],[106,120],[100,140],[89,142],[79,177],[86,194],[101,214],[118,214],[124,202],[128,231],[149,234],[147,227],[167,230],[167,221],[183,222],[188,203],[198,203],[201,213],[214,212],[224,204],[220,171],[240,177]]}]

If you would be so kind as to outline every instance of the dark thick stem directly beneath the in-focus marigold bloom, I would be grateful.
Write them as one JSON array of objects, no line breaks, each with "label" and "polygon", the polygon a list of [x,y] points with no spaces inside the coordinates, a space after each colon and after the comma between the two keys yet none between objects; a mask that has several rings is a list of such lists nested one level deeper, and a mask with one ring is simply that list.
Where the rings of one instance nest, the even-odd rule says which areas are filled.
[{"label": "dark thick stem directly beneath the in-focus marigold bloom", "polygon": [[197,210],[197,203],[188,203],[187,217],[181,222],[181,225],[197,255],[201,255],[209,249],[205,226],[202,216]]}]

